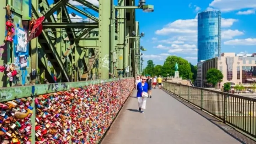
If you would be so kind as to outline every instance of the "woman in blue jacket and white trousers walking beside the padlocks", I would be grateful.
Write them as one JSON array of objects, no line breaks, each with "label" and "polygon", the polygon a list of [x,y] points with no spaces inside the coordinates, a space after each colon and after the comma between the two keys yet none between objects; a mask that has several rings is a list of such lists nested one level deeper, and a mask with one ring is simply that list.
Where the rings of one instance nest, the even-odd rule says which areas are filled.
[{"label": "woman in blue jacket and white trousers walking beside the padlocks", "polygon": [[148,92],[148,84],[146,83],[146,77],[142,77],[142,81],[137,85],[137,98],[139,105],[139,112],[144,113],[143,109],[146,109],[146,97],[142,97],[142,92]]}]

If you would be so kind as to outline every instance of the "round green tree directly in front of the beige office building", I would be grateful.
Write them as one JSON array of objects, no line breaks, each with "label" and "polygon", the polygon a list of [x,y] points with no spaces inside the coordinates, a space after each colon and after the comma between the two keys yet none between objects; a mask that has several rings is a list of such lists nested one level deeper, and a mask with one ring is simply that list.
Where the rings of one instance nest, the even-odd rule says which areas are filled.
[{"label": "round green tree directly in front of the beige office building", "polygon": [[209,69],[206,73],[206,79],[208,83],[216,86],[218,82],[223,80],[223,74],[218,69]]}]

